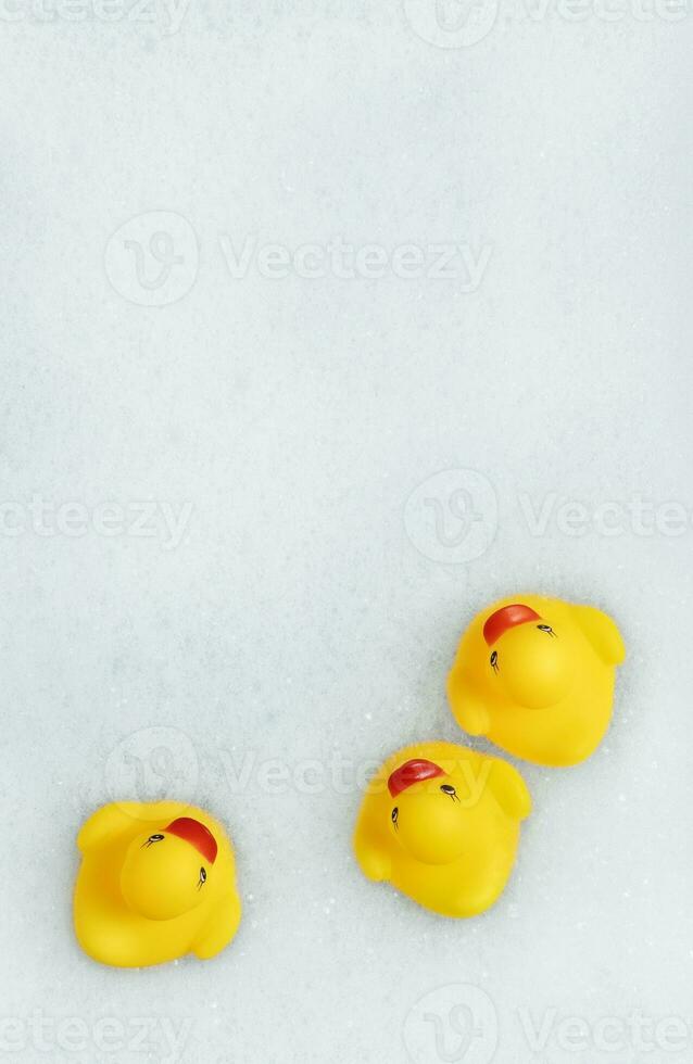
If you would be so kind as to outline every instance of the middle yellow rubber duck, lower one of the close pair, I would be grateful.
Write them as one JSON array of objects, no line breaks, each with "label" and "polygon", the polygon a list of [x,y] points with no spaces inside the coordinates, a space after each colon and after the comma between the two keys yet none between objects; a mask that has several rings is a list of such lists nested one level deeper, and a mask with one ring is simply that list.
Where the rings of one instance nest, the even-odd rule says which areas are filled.
[{"label": "middle yellow rubber duck, lower one of the close pair", "polygon": [[531,799],[505,761],[454,743],[393,753],[371,780],[354,850],[368,879],[388,881],[443,916],[475,916],[503,892]]}]

